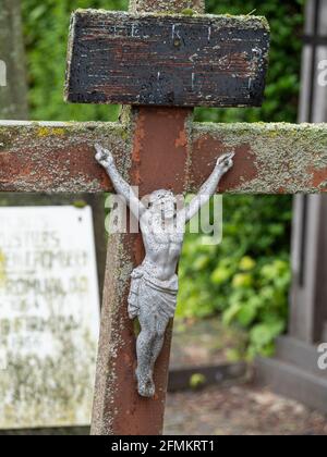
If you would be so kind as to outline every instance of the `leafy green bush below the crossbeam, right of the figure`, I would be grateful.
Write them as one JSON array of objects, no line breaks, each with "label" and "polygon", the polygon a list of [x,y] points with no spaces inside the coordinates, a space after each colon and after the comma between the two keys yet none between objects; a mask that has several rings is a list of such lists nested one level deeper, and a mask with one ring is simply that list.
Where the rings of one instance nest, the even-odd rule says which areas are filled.
[{"label": "leafy green bush below the crossbeam, right of the figure", "polygon": [[186,235],[178,318],[221,313],[249,330],[249,357],[270,355],[287,322],[291,215],[289,196],[223,197],[222,243]]}]

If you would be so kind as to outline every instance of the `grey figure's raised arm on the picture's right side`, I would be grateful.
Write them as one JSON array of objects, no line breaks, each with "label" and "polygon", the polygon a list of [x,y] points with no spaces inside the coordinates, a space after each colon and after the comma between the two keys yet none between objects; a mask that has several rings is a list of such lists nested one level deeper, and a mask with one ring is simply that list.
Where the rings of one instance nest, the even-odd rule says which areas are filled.
[{"label": "grey figure's raised arm on the picture's right side", "polygon": [[216,193],[220,178],[233,166],[233,157],[234,152],[230,152],[217,160],[210,177],[202,186],[197,196],[185,207],[182,214],[185,218],[185,222],[189,222]]}]

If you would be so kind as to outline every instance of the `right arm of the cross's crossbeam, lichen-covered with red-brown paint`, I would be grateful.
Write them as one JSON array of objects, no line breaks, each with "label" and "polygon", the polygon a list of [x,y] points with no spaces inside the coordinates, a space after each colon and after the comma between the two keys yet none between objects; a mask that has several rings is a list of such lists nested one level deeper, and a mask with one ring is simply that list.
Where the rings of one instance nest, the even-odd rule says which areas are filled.
[{"label": "right arm of the cross's crossbeam, lichen-covered with red-brown paint", "polygon": [[197,188],[216,157],[229,149],[235,164],[220,192],[327,192],[327,124],[196,124],[187,188]]}]

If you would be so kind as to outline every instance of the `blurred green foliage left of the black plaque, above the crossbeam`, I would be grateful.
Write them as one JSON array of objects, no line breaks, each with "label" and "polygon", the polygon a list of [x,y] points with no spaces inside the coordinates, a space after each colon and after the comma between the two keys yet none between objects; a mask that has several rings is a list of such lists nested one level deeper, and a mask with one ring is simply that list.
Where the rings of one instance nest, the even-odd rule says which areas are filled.
[{"label": "blurred green foliage left of the black plaque, above the crossbeam", "polygon": [[35,121],[112,121],[118,107],[63,101],[68,34],[78,8],[125,10],[128,0],[22,0],[28,67],[28,101]]}]

